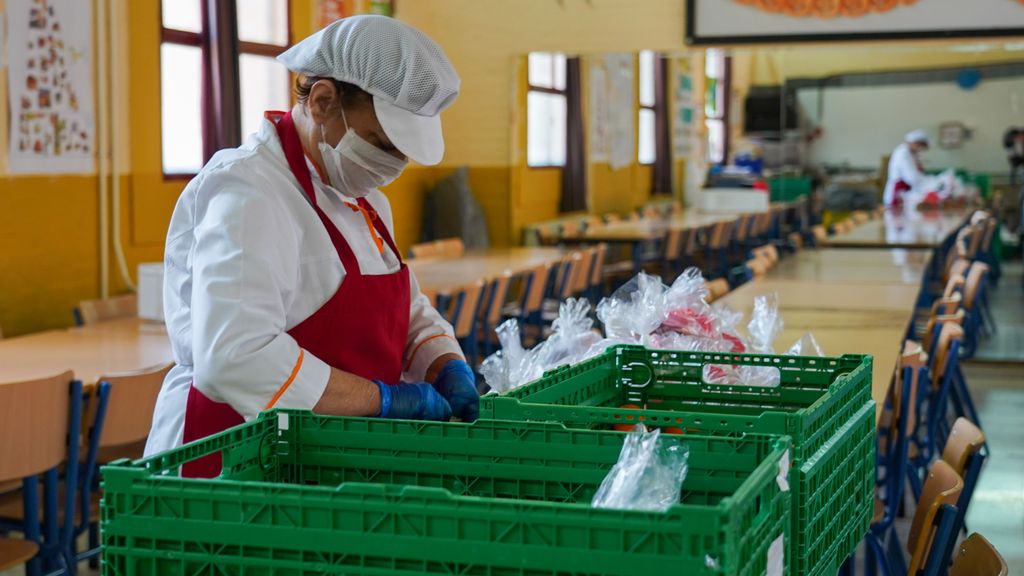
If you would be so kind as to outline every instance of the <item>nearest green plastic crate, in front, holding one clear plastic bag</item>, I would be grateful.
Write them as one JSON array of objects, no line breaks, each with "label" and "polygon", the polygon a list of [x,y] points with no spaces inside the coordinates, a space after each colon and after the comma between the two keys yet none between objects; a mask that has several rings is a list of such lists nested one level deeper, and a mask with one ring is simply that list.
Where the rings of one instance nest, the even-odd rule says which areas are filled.
[{"label": "nearest green plastic crate, in front, holding one clear plastic bag", "polygon": [[[688,437],[680,504],[592,508],[624,438],[557,423],[267,412],[104,466],[103,574],[782,573],[769,550],[791,549],[779,481],[788,439]],[[220,478],[177,477],[217,451]]]}]

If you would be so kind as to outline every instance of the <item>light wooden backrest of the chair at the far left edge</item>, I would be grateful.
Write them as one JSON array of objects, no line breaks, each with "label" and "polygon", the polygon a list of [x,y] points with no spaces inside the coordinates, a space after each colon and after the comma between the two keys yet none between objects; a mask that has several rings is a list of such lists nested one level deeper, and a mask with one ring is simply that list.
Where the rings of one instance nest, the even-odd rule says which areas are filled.
[{"label": "light wooden backrest of the chair at the far left edge", "polygon": [[0,483],[39,475],[67,459],[74,378],[68,371],[0,383]]}]

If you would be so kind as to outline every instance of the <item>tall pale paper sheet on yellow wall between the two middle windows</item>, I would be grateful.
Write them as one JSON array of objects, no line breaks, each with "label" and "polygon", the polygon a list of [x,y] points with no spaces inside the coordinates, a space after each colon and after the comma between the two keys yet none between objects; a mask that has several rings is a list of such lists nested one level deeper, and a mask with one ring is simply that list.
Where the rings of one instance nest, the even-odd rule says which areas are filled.
[{"label": "tall pale paper sheet on yellow wall between the two middle windows", "polygon": [[606,54],[608,75],[608,165],[612,170],[636,161],[633,54]]}]

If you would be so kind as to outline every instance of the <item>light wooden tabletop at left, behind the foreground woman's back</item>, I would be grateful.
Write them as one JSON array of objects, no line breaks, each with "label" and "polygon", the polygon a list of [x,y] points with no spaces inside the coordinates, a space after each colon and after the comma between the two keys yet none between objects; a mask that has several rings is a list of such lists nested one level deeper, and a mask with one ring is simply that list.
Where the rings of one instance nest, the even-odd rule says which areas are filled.
[{"label": "light wooden tabletop at left, behind the foreground woman's back", "polygon": [[163,324],[115,320],[0,340],[0,382],[52,376],[68,369],[76,378],[93,382],[172,360]]}]

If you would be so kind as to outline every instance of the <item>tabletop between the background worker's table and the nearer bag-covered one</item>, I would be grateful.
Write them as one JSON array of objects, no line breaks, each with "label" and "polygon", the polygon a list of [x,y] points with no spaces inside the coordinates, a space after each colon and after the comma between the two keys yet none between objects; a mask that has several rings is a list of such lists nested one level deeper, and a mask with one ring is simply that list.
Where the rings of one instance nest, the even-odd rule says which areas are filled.
[{"label": "tabletop between the background worker's table and the nearer bag-covered one", "polygon": [[779,261],[773,280],[918,285],[931,260],[929,250],[902,248],[805,250]]}]

